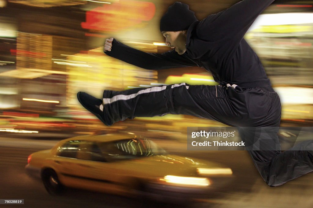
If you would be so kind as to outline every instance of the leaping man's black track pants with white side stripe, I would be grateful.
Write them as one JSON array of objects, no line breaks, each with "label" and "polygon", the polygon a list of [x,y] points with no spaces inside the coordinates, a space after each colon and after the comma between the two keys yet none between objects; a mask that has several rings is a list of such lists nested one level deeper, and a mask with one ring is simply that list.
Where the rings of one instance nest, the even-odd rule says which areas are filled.
[{"label": "leaping man's black track pants with white side stripe", "polygon": [[253,143],[256,135],[241,127],[277,127],[261,134],[269,150],[248,148],[264,181],[270,186],[279,186],[313,171],[312,142],[298,144],[303,146],[303,151],[281,153],[277,136],[281,116],[280,99],[271,87],[242,89],[238,86],[181,83],[124,91],[105,90],[103,105],[104,113],[112,123],[135,117],[193,115],[237,126],[241,138],[248,143]]}]

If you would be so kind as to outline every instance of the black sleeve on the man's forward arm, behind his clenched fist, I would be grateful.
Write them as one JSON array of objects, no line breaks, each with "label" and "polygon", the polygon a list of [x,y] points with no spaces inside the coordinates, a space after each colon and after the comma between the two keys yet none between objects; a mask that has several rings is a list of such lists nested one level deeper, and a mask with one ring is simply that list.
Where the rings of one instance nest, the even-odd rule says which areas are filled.
[{"label": "black sleeve on the man's forward arm, behind his clenched fist", "polygon": [[126,46],[115,39],[113,39],[111,51],[104,52],[108,56],[149,70],[197,66],[197,64],[187,58],[186,55],[179,55],[174,50],[162,54],[146,53]]}]

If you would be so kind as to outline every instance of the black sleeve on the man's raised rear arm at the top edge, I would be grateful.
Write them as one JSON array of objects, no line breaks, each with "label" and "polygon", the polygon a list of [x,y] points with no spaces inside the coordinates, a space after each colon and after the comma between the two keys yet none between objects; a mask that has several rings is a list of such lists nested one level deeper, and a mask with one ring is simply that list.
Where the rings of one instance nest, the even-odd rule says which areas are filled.
[{"label": "black sleeve on the man's raised rear arm at the top edge", "polygon": [[197,27],[197,35],[205,41],[223,37],[241,40],[254,20],[275,0],[243,0],[217,14],[209,15]]}]

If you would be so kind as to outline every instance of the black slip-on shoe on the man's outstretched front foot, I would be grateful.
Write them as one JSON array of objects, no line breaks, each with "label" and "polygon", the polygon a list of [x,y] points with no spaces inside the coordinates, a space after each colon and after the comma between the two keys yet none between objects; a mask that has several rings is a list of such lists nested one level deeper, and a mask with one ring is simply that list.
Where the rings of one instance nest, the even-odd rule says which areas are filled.
[{"label": "black slip-on shoe on the man's outstretched front foot", "polygon": [[97,99],[85,92],[78,92],[77,99],[85,109],[97,116],[106,126],[112,125],[108,116],[105,115],[105,109],[103,109],[103,111],[100,110],[100,105],[102,104],[101,99]]}]

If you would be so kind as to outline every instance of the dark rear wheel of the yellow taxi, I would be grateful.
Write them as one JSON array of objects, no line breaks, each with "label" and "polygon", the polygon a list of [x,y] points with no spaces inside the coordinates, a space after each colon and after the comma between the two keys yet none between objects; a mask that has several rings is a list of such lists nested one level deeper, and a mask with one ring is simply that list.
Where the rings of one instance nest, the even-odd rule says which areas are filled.
[{"label": "dark rear wheel of the yellow taxi", "polygon": [[44,170],[42,173],[44,187],[51,195],[60,195],[63,193],[63,185],[59,181],[58,175],[52,169]]}]

